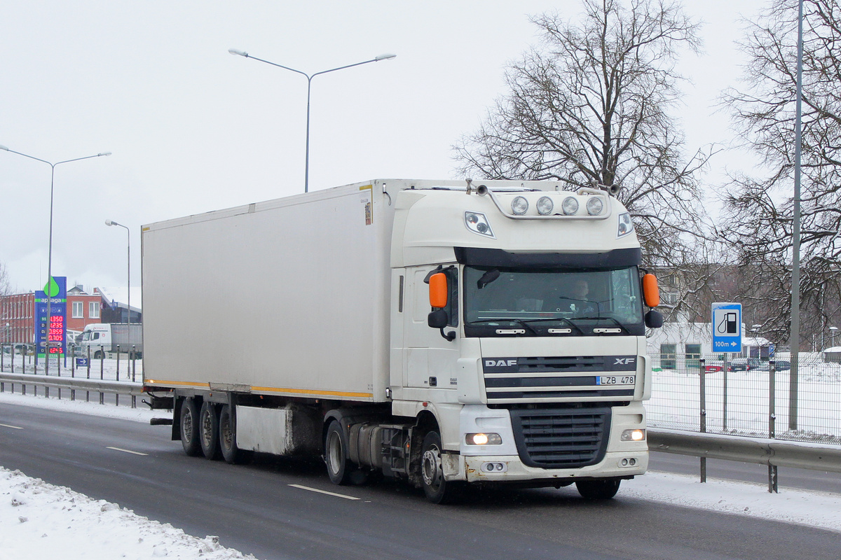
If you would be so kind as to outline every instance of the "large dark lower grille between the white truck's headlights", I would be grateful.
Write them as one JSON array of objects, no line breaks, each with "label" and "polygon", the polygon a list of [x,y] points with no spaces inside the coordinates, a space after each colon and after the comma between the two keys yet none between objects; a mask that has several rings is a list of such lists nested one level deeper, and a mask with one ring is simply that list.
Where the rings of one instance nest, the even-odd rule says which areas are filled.
[{"label": "large dark lower grille between the white truck's headlights", "polygon": [[517,452],[538,468],[579,468],[605,456],[610,408],[512,410]]}]

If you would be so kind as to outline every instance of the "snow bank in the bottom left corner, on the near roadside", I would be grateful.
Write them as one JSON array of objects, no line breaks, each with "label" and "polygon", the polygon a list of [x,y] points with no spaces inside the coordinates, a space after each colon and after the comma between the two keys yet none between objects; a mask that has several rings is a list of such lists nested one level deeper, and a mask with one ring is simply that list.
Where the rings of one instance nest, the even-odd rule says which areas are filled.
[{"label": "snow bank in the bottom left corner, on the near roadside", "polygon": [[253,558],[105,500],[0,467],[0,558]]}]

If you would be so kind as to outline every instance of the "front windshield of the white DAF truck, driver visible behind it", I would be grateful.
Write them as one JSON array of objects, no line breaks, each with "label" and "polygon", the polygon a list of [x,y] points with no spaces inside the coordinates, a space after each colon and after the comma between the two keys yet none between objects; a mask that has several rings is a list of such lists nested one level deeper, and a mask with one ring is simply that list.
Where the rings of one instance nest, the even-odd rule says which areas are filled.
[{"label": "front windshield of the white DAF truck, driver visible behind it", "polygon": [[470,337],[643,335],[636,266],[611,269],[464,267]]}]

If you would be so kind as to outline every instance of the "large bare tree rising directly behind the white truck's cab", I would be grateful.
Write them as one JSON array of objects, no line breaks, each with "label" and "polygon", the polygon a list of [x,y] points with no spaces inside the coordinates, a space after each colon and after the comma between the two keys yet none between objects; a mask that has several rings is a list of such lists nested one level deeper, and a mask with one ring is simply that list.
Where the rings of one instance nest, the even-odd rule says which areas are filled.
[{"label": "large bare tree rising directly behind the white truck's cab", "polygon": [[677,52],[697,50],[697,24],[677,2],[583,5],[577,23],[532,18],[542,43],[510,65],[510,93],[454,146],[461,171],[621,188],[649,266],[698,264],[711,250],[698,175],[712,150],[685,158],[669,114],[680,98]]}]

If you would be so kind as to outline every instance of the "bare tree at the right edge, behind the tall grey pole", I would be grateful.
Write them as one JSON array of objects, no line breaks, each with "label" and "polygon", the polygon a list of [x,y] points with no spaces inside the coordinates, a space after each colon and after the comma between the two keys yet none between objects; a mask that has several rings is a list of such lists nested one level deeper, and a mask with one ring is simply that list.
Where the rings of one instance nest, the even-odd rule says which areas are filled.
[{"label": "bare tree at the right edge, behind the tall grey pole", "polygon": [[[822,338],[841,318],[841,8],[837,0],[804,7],[801,324],[804,338]],[[778,340],[788,338],[791,315],[797,12],[797,0],[773,0],[748,24],[744,86],[723,97],[764,161],[764,175],[734,176],[723,236],[755,271],[744,297],[764,309],[763,331]]]}]

